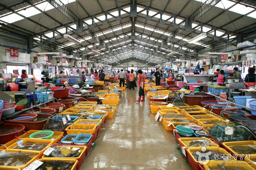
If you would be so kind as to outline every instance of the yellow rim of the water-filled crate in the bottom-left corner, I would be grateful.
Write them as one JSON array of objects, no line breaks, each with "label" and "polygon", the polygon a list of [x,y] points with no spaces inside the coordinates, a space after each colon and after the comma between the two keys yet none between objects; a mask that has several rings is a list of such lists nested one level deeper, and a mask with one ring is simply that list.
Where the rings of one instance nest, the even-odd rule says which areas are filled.
[{"label": "yellow rim of the water-filled crate in the bottom-left corner", "polygon": [[[0,151],[3,151],[3,149],[0,149]],[[8,154],[9,152],[19,152],[20,150],[15,150],[15,149],[5,149],[5,152]],[[29,156],[31,159],[25,163],[25,165],[23,166],[4,166],[1,165],[1,163],[5,163],[5,162],[0,162],[0,169],[5,169],[6,167],[8,168],[20,168],[20,169],[24,169],[25,167],[27,167],[30,163],[34,162],[37,158],[39,158],[40,153],[36,152],[36,151],[29,151],[29,150],[25,150],[25,151],[20,151],[20,153],[27,153],[27,154],[32,154],[31,156]]]}]

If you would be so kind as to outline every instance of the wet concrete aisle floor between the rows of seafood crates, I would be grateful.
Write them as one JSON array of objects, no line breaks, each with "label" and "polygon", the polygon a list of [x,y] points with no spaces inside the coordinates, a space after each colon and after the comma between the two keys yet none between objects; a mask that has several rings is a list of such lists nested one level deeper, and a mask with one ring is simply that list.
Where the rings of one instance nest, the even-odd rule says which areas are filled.
[{"label": "wet concrete aisle floor between the rows of seafood crates", "polygon": [[138,89],[126,90],[117,114],[108,119],[81,169],[191,169],[170,131],[155,121],[149,104],[135,102]]}]

